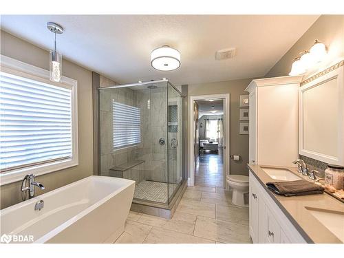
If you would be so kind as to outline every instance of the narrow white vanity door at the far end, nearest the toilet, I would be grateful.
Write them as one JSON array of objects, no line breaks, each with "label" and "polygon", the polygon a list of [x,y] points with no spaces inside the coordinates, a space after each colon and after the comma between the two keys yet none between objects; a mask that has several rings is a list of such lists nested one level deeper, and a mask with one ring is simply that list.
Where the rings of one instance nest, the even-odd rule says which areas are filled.
[{"label": "narrow white vanity door at the far end, nearest the toilet", "polygon": [[253,243],[259,243],[258,237],[258,226],[259,226],[259,206],[258,206],[258,195],[257,187],[253,182],[251,182],[252,175],[250,175],[249,184],[249,215],[250,215],[250,237]]}]

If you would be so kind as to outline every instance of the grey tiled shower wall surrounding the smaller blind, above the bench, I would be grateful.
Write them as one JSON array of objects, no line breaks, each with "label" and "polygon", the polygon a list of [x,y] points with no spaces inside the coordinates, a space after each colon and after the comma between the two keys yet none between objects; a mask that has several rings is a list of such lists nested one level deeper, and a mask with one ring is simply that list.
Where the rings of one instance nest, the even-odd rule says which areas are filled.
[{"label": "grey tiled shower wall surrounding the smaller blind, above the bench", "polygon": [[[111,167],[125,164],[135,159],[135,147],[114,151],[112,127],[113,100],[135,106],[136,92],[129,88],[100,91],[100,173],[107,176]],[[127,172],[130,175],[133,174],[131,171]],[[140,178],[139,175],[138,178]]]}]

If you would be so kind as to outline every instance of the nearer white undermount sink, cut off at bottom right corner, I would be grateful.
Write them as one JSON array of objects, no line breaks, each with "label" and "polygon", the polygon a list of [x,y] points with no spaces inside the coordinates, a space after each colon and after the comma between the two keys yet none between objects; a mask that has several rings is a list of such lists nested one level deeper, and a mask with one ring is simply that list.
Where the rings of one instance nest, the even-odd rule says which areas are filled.
[{"label": "nearer white undermount sink, cut off at bottom right corner", "polygon": [[305,207],[323,226],[344,242],[344,212]]}]

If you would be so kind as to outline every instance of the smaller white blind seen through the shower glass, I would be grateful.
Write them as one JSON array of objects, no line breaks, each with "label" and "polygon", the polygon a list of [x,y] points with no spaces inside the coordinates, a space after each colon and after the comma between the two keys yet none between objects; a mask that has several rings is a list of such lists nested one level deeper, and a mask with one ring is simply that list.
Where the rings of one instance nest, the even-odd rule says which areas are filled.
[{"label": "smaller white blind seen through the shower glass", "polygon": [[140,109],[113,100],[112,102],[114,149],[141,142]]}]

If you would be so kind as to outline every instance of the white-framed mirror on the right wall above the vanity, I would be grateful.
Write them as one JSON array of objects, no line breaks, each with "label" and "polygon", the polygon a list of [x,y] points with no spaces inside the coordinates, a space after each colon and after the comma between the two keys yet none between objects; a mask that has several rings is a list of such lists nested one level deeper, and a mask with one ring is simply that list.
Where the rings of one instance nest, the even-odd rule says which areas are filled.
[{"label": "white-framed mirror on the right wall above the vanity", "polygon": [[306,83],[299,92],[299,154],[344,164],[343,66]]}]

